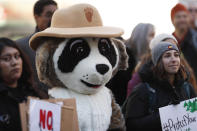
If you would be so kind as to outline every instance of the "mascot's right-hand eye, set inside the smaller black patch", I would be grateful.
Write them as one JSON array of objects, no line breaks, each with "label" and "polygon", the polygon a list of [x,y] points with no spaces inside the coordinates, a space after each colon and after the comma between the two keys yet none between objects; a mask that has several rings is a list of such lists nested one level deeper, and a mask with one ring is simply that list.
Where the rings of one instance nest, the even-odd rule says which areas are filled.
[{"label": "mascot's right-hand eye, set inside the smaller black patch", "polygon": [[100,39],[99,49],[103,53],[110,51],[110,41],[109,41],[109,39],[105,39],[105,38]]}]

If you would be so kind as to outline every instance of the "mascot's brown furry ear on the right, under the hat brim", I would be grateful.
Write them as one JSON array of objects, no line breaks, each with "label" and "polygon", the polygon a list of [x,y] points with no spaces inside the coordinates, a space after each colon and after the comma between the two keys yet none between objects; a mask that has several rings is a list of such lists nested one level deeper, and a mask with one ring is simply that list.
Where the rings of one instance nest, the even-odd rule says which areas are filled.
[{"label": "mascot's brown furry ear on the right, under the hat brim", "polygon": [[125,44],[121,40],[112,38],[112,41],[118,49],[119,53],[119,62],[117,68],[113,71],[114,75],[118,70],[126,70],[128,68],[128,55],[126,52]]}]

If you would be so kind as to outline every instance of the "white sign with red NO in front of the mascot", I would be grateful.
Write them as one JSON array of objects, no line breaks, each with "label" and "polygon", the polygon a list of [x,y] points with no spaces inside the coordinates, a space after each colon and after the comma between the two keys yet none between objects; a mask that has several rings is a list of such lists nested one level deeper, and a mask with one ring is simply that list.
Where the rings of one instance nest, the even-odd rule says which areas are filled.
[{"label": "white sign with red NO in front of the mascot", "polygon": [[61,105],[30,99],[29,131],[60,131]]}]

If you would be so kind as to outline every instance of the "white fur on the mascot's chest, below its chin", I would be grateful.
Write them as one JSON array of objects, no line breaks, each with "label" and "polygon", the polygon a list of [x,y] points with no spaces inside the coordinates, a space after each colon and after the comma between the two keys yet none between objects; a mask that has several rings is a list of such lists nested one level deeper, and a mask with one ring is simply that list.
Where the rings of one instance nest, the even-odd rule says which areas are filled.
[{"label": "white fur on the mascot's chest, below its chin", "polygon": [[65,88],[53,88],[49,94],[54,98],[75,98],[81,131],[106,131],[109,128],[112,107],[111,94],[106,87],[93,95],[83,95]]}]

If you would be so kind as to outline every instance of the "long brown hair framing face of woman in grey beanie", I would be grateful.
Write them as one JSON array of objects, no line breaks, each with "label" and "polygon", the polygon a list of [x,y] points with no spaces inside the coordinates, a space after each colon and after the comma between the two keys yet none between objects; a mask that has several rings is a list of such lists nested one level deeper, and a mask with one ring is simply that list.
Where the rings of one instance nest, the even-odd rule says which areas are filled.
[{"label": "long brown hair framing face of woman in grey beanie", "polygon": [[[180,59],[181,60],[181,59]],[[153,73],[159,80],[168,80],[168,73],[166,72],[162,57],[160,57],[156,66],[152,67]],[[181,62],[178,72],[175,74],[175,80],[185,80],[187,77],[187,72]]]}]

